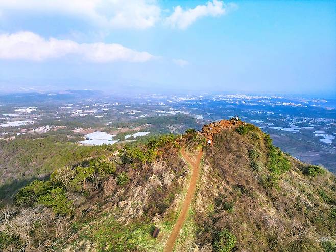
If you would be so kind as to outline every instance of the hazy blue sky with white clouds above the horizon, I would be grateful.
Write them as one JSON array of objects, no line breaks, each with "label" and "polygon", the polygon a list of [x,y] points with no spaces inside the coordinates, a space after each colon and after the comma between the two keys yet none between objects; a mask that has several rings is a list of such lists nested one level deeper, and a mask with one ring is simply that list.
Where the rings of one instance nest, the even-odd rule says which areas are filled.
[{"label": "hazy blue sky with white clouds above the horizon", "polygon": [[0,0],[0,92],[336,97],[336,1]]}]

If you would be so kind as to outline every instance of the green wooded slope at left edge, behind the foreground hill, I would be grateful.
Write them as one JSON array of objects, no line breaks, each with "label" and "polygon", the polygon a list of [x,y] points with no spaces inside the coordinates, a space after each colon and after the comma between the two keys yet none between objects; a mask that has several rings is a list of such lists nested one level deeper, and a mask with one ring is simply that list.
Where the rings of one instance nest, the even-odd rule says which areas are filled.
[{"label": "green wooded slope at left edge, behind the foreground hill", "polygon": [[64,135],[42,138],[0,140],[0,202],[7,200],[34,179],[43,179],[54,170],[85,158],[100,156],[112,146],[79,146]]}]

